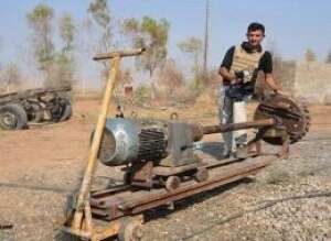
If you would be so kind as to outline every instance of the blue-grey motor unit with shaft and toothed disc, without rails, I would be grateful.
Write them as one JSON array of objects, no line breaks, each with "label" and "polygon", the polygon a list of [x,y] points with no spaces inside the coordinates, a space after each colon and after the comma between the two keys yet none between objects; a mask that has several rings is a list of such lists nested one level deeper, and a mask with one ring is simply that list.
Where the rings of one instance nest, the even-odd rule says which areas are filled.
[{"label": "blue-grey motor unit with shaft and toothed disc, without rails", "polygon": [[307,108],[280,95],[264,99],[256,108],[254,121],[244,123],[202,125],[180,120],[114,118],[106,122],[98,158],[107,166],[125,166],[126,184],[173,190],[185,179],[183,176],[207,179],[210,164],[194,154],[194,142],[206,134],[254,128],[257,133],[248,149],[255,146],[255,152],[247,157],[261,154],[261,140],[281,145],[277,155],[287,157],[289,145],[305,136],[309,123]]}]

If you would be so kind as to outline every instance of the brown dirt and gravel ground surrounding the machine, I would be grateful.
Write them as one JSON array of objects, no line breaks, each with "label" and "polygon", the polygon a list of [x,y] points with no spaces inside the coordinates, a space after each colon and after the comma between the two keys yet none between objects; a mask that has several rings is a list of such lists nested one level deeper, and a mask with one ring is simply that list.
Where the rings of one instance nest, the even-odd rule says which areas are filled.
[{"label": "brown dirt and gravel ground surrounding the machine", "polygon": [[[66,197],[79,184],[99,105],[81,100],[67,122],[0,132],[1,241],[64,240],[58,229]],[[185,120],[217,122],[214,103],[180,110],[130,108],[125,111],[139,117],[168,118],[178,111]],[[175,211],[149,211],[143,240],[331,240],[331,106],[309,109],[312,127],[291,146],[289,160],[278,160],[250,182],[179,201]],[[108,174],[120,175],[104,167],[96,180]],[[309,196],[317,193],[322,194]],[[296,195],[303,196],[255,210],[265,200]]]}]

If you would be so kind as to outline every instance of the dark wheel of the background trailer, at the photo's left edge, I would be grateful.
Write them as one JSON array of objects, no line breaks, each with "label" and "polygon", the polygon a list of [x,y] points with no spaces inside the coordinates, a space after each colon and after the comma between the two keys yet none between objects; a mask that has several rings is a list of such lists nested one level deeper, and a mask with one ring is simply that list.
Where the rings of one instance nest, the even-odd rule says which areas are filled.
[{"label": "dark wheel of the background trailer, at the photo's left edge", "polygon": [[9,103],[0,108],[0,128],[3,130],[20,130],[26,128],[28,116],[24,108],[18,103]]}]

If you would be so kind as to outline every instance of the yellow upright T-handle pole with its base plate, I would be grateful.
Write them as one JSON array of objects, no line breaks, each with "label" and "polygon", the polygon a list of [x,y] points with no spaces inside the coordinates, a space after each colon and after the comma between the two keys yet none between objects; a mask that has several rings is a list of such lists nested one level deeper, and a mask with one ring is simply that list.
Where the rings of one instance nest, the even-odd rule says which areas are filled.
[{"label": "yellow upright T-handle pole with its base plate", "polygon": [[73,213],[73,219],[71,220],[70,227],[64,228],[64,231],[66,232],[82,238],[87,238],[93,241],[98,241],[108,237],[116,235],[119,231],[119,222],[111,222],[109,227],[104,229],[94,226],[90,212],[89,190],[120,59],[126,56],[140,55],[143,51],[143,48],[139,48],[134,51],[113,52],[94,57],[95,61],[110,59],[109,78],[107,80],[102,110],[88,151],[87,167],[85,169],[82,186],[77,196],[77,202],[75,211]]}]

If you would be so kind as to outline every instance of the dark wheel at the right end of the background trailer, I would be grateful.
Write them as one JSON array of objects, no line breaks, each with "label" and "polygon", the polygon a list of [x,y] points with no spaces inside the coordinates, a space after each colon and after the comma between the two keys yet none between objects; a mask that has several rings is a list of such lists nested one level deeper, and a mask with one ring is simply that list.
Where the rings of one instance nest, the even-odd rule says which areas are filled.
[{"label": "dark wheel at the right end of the background trailer", "polygon": [[72,113],[72,105],[65,98],[57,98],[54,106],[50,109],[51,121],[54,122],[68,120]]}]

